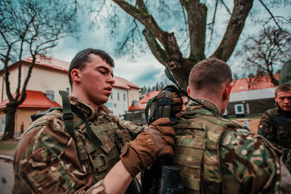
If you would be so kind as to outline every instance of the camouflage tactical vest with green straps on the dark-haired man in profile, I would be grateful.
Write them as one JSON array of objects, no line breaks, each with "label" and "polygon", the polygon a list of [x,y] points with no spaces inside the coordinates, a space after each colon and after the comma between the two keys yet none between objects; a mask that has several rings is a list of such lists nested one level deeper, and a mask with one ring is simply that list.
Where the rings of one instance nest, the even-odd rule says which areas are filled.
[{"label": "camouflage tactical vest with green straps on the dark-haired man in profile", "polygon": [[[52,107],[43,113],[31,115],[31,118],[35,120],[43,115],[63,118],[65,131],[75,142],[79,162],[91,172],[95,184],[120,160],[120,150],[131,141],[131,136],[127,129],[120,130],[110,115],[89,122],[79,108],[70,104],[67,92],[59,92],[63,107]],[[35,125],[38,125],[37,121]]]}]

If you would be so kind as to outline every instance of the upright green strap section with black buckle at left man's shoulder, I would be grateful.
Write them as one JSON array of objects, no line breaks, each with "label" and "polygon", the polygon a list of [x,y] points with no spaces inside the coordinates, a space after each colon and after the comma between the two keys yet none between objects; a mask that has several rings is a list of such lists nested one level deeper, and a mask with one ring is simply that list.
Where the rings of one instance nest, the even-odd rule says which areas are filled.
[{"label": "upright green strap section with black buckle at left man's shoulder", "polygon": [[72,113],[71,110],[71,103],[70,99],[68,96],[68,93],[66,91],[59,91],[62,101],[63,101],[63,119],[65,121],[65,126],[66,126],[66,133],[68,133],[75,141],[75,129],[74,129],[74,113]]}]

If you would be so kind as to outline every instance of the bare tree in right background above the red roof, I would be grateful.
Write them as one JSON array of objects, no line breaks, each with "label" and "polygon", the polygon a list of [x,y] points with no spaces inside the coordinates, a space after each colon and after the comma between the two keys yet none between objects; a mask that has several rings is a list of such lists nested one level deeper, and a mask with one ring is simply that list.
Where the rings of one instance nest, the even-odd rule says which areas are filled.
[{"label": "bare tree in right background above the red roof", "polygon": [[253,66],[258,72],[269,75],[271,82],[278,86],[274,73],[291,57],[291,35],[266,26],[257,36],[247,37],[236,56],[246,60],[245,67]]}]

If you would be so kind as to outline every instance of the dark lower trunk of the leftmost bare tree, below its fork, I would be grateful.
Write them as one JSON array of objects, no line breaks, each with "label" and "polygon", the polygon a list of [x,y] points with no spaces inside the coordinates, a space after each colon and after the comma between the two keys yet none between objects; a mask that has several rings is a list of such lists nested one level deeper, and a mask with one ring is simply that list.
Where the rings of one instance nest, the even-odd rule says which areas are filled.
[{"label": "dark lower trunk of the leftmost bare tree, below its fork", "polygon": [[17,108],[17,106],[14,104],[7,104],[7,106],[5,108],[6,127],[5,127],[5,131],[4,131],[4,136],[2,137],[1,141],[13,138],[16,108]]}]

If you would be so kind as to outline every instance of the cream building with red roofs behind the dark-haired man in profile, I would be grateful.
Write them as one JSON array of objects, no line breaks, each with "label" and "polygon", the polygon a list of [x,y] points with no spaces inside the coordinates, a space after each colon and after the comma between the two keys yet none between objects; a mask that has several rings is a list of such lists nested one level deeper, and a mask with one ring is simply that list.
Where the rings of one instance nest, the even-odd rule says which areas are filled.
[{"label": "cream building with red roofs behind the dark-haired man in profile", "polygon": [[[32,57],[22,59],[21,66],[21,85],[23,85],[28,69],[31,65]],[[9,82],[10,91],[16,91],[18,85],[18,64],[15,62],[9,65]],[[52,106],[61,106],[62,99],[58,91],[71,92],[70,83],[68,80],[68,70],[70,63],[58,60],[52,57],[36,58],[35,65],[31,72],[31,77],[26,86],[27,98],[17,109],[17,115],[19,120],[20,113],[23,110],[30,110],[32,112],[26,114],[26,118],[22,119],[25,123],[25,128],[30,123],[30,115],[35,114],[38,111],[43,112]],[[129,106],[132,105],[134,100],[139,100],[139,88],[126,79],[114,76],[115,83],[112,85],[111,96],[108,102],[105,104],[114,115],[122,115],[128,111]],[[1,113],[1,131],[4,131],[5,126],[5,113],[3,112],[8,99],[6,95],[4,70],[0,70],[0,111]],[[21,88],[20,88],[21,89]],[[49,97],[49,98],[48,98]],[[51,102],[47,100],[50,99]],[[17,125],[17,124],[16,124]],[[18,123],[19,125],[19,123]],[[16,130],[19,130],[19,126],[16,126]]]}]

